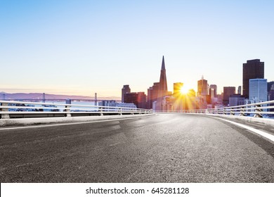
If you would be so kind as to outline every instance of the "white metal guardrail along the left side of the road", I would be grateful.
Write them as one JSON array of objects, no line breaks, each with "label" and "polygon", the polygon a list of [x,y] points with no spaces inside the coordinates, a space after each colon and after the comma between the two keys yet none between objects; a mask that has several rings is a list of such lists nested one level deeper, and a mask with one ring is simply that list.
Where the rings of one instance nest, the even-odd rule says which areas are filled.
[{"label": "white metal guardrail along the left side of the road", "polygon": [[141,108],[124,108],[112,106],[0,101],[1,119],[19,117],[72,117],[84,115],[134,115],[149,113],[153,113],[153,111]]}]

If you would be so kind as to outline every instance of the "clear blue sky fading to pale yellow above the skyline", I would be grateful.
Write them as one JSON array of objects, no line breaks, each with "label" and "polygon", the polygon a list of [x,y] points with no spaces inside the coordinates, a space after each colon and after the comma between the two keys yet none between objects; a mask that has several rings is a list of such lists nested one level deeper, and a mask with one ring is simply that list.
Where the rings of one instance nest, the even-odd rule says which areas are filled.
[{"label": "clear blue sky fading to pale yellow above the skyline", "polygon": [[121,96],[202,75],[242,85],[259,58],[274,80],[274,1],[0,0],[0,91]]}]

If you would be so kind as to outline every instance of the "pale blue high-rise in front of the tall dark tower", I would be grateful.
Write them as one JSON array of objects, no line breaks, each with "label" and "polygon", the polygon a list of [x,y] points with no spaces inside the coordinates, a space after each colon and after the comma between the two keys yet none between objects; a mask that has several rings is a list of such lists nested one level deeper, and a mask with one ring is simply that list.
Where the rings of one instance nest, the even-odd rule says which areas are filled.
[{"label": "pale blue high-rise in front of the tall dark tower", "polygon": [[249,80],[249,100],[253,100],[256,102],[268,101],[266,79]]}]

